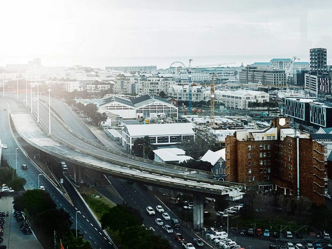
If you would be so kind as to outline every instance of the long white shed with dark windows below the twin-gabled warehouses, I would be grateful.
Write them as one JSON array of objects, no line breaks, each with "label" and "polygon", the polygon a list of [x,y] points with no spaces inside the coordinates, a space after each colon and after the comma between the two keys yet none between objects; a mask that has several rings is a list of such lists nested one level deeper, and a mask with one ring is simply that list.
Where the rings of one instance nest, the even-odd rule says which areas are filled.
[{"label": "long white shed with dark windows below the twin-gabled warehouses", "polygon": [[183,140],[195,139],[193,124],[129,124],[122,130],[122,146],[131,153],[134,141],[144,136],[156,146],[170,146]]}]

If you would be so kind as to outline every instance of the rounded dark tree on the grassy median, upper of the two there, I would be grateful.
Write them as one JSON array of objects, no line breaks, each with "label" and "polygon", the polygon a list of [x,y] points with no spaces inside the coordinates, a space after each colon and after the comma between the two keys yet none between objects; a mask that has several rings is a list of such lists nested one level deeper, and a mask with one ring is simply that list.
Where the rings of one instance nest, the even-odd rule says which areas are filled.
[{"label": "rounded dark tree on the grassy median, upper of the two there", "polygon": [[129,226],[141,226],[143,217],[139,210],[127,205],[117,205],[110,208],[100,219],[102,228],[110,228],[113,231],[119,231],[120,234]]}]

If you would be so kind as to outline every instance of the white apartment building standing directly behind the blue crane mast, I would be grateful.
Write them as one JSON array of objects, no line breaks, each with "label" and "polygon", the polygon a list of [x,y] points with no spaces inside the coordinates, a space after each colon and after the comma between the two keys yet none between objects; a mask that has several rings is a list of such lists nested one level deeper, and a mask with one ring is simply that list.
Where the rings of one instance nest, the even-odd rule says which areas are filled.
[{"label": "white apartment building standing directly behind the blue crane mast", "polygon": [[[191,89],[192,94],[192,101],[193,102],[199,102],[199,101],[208,101],[210,99],[211,93],[210,93],[210,87],[206,86],[192,86]],[[189,101],[189,86],[170,86],[168,88],[168,94],[169,97],[176,99],[176,100],[185,100]]]}]

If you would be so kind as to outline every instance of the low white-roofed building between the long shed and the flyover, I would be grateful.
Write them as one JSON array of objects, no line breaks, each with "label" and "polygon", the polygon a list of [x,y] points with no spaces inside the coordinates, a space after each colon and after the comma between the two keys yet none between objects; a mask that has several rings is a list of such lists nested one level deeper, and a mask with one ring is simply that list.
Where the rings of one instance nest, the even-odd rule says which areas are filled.
[{"label": "low white-roofed building between the long shed and the flyover", "polygon": [[179,148],[164,148],[156,149],[154,152],[154,161],[159,163],[182,163],[193,159],[191,156],[186,156],[186,151]]}]

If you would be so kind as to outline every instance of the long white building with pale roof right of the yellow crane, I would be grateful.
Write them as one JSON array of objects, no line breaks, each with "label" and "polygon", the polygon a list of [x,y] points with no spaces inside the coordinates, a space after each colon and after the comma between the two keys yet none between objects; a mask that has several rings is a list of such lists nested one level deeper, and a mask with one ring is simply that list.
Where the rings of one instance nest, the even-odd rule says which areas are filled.
[{"label": "long white building with pale roof right of the yellow crane", "polygon": [[215,100],[222,102],[225,106],[234,109],[249,107],[250,102],[269,102],[269,94],[266,92],[238,89],[236,91],[215,91]]}]

